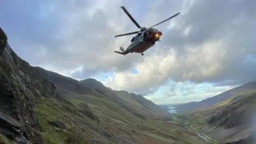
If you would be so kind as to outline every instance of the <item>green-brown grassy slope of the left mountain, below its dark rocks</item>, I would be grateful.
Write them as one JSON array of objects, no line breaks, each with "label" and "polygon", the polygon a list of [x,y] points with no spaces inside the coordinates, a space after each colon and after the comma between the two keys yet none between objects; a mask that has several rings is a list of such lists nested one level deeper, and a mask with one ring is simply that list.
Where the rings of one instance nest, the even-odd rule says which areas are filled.
[{"label": "green-brown grassy slope of the left mountain, below its dark rocks", "polygon": [[[98,124],[86,116],[79,117],[77,115],[77,109],[82,108],[80,106],[82,101],[70,101],[69,104],[63,104],[54,99],[44,98],[35,108],[43,129],[42,135],[47,143],[61,143],[68,138],[75,139],[76,143],[86,143],[92,140],[102,143],[111,143],[111,141],[117,143],[118,139],[123,139],[123,137],[129,137],[128,139],[135,143],[175,143],[177,141],[204,143],[195,133],[188,132],[178,123],[164,122],[158,119],[144,121],[118,107],[114,102],[88,96],[86,102],[90,103],[90,109],[98,116],[100,121]],[[57,129],[47,123],[54,119],[65,123],[67,130]],[[106,137],[106,135],[111,136]]]}]

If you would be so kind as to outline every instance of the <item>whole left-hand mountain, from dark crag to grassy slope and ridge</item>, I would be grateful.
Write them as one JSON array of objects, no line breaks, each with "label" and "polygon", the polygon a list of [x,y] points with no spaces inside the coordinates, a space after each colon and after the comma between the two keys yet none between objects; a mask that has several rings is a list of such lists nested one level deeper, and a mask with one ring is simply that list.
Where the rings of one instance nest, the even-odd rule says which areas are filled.
[{"label": "whole left-hand mountain, from dark crag to grassy slope and ridge", "polygon": [[0,143],[205,143],[141,95],[30,66],[2,33]]}]

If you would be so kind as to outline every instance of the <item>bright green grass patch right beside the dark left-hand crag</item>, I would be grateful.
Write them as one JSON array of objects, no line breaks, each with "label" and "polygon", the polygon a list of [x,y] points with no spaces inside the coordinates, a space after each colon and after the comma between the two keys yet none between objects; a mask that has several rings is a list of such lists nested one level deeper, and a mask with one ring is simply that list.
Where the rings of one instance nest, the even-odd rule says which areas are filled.
[{"label": "bright green grass patch right beside the dark left-hand crag", "polygon": [[[67,110],[67,107],[70,111]],[[34,109],[38,118],[39,124],[42,126],[42,135],[47,143],[64,143],[65,140],[74,140],[74,143],[86,143],[89,139],[95,138],[95,133],[90,132],[86,127],[71,125],[71,118],[79,122],[82,119],[83,123],[94,123],[90,118],[80,118],[75,113],[78,110],[75,105],[62,103],[55,99],[40,100]],[[71,111],[74,110],[74,113]],[[58,120],[63,122],[67,130],[62,130],[52,126],[48,121]],[[84,132],[82,129],[85,129]]]}]

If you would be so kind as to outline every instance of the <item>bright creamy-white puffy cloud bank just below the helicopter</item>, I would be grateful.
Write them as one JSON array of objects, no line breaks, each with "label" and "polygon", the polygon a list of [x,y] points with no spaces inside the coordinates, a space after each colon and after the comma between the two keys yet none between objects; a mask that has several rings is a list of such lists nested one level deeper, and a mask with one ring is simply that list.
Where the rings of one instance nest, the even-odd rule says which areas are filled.
[{"label": "bright creamy-white puffy cloud bank just below the helicopter", "polygon": [[175,49],[165,51],[162,57],[151,54],[145,61],[135,65],[139,71],[133,75],[130,71],[115,73],[111,79],[114,89],[143,92],[165,84],[167,79],[187,81],[198,78],[211,78],[218,75],[222,69],[221,62],[225,57],[225,46],[220,42],[207,43],[198,47],[187,47],[185,54],[177,57]]}]

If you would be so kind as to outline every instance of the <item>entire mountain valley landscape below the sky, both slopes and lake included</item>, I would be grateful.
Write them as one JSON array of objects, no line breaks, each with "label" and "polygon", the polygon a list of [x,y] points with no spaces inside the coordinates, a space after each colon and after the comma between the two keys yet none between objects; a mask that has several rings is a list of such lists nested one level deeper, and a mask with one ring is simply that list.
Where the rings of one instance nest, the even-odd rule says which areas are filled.
[{"label": "entire mountain valley landscape below the sky, both slopes and lake included", "polygon": [[199,102],[157,106],[93,78],[30,66],[8,43],[0,48],[1,143],[255,142],[255,82]]}]

